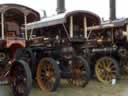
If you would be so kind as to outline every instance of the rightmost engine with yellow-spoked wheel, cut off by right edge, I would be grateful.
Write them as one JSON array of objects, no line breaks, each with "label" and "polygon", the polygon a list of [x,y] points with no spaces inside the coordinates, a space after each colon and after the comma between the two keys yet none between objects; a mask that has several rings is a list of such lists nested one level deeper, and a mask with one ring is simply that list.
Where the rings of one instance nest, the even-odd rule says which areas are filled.
[{"label": "rightmost engine with yellow-spoked wheel, cut off by right edge", "polygon": [[[103,22],[88,27],[89,39],[85,53],[95,63],[95,73],[103,83],[119,78],[120,70],[127,73],[127,19]],[[87,57],[87,56],[85,56]]]}]

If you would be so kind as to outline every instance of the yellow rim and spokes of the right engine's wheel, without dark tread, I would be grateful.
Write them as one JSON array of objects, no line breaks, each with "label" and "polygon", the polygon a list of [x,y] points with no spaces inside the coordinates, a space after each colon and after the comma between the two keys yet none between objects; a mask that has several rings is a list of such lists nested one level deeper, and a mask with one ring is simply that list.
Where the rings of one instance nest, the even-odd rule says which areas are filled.
[{"label": "yellow rim and spokes of the right engine's wheel, without dark tread", "polygon": [[[112,79],[114,77],[116,77],[115,76],[116,71],[112,70],[112,68],[114,66],[114,64],[113,64],[114,62],[111,60],[111,62],[112,62],[111,63],[111,62],[108,62],[108,60],[110,61],[111,59],[110,58],[101,58],[96,62],[96,65],[95,65],[95,72],[96,72],[97,79],[104,84],[110,84]],[[107,62],[105,62],[105,61],[107,61]],[[111,64],[113,66],[111,66]],[[100,68],[99,68],[99,66],[100,66]]]}]

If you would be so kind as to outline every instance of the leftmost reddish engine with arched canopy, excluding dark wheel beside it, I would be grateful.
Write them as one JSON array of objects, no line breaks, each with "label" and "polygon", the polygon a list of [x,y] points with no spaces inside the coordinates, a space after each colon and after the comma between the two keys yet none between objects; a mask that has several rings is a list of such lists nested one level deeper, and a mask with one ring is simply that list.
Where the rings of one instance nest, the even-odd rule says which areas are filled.
[{"label": "leftmost reddish engine with arched canopy, excluding dark wheel beside it", "polygon": [[39,20],[40,15],[26,6],[1,4],[0,17],[0,81],[3,82],[7,80],[16,50],[26,47],[24,25]]}]

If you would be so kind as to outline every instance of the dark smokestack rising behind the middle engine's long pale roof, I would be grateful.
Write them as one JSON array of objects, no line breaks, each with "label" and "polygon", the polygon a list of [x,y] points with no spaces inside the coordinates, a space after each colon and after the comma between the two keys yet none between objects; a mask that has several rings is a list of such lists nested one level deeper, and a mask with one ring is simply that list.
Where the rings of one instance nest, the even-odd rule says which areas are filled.
[{"label": "dark smokestack rising behind the middle engine's long pale roof", "polygon": [[65,0],[57,0],[57,14],[65,12]]}]

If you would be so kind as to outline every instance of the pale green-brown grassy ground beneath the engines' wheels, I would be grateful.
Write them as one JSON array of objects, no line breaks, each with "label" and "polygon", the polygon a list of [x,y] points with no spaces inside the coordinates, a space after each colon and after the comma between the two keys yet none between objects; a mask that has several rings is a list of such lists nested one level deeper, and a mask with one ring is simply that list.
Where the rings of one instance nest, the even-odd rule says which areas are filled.
[{"label": "pale green-brown grassy ground beneath the engines' wheels", "polygon": [[[0,96],[13,96],[8,86],[0,86]],[[29,96],[128,96],[128,80],[120,80],[116,85],[104,85],[97,80],[92,80],[85,88],[70,87],[61,83],[60,88],[54,93],[40,91],[33,87]]]}]

